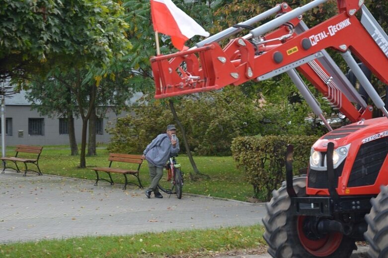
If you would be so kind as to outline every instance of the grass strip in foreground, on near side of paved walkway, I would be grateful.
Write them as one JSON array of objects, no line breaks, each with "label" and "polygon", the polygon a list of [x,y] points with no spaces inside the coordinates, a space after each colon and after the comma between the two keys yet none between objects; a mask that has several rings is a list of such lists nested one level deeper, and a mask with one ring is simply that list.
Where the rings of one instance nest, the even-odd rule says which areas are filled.
[{"label": "grass strip in foreground, on near side of paved walkway", "polygon": [[255,249],[258,252],[265,252],[262,234],[263,227],[257,225],[131,236],[43,240],[0,245],[0,257],[211,257],[231,250]]}]

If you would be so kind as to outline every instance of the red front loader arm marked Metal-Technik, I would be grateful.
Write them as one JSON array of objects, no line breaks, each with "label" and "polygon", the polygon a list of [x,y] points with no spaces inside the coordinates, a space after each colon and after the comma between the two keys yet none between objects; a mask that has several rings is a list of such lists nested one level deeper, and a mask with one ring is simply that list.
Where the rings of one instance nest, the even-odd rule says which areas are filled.
[{"label": "red front loader arm marked Metal-Technik", "polygon": [[[231,39],[224,48],[218,42],[241,31],[238,24],[236,28],[217,33],[187,51],[152,57],[155,98],[216,90],[287,72],[314,113],[325,122],[319,105],[299,77],[297,69],[333,108],[345,114],[350,121],[370,119],[372,107],[365,103],[327,54],[325,49],[330,48],[341,53],[377,108],[388,117],[385,104],[352,56],[356,56],[387,84],[387,34],[362,0],[337,0],[337,15],[308,28],[302,21],[302,13],[326,1],[314,0],[296,9],[287,3],[278,4],[242,25],[251,26],[253,22],[274,14],[277,14],[276,18],[243,37]],[[362,12],[361,20],[355,16],[359,11]],[[361,108],[356,108],[355,104]]]}]

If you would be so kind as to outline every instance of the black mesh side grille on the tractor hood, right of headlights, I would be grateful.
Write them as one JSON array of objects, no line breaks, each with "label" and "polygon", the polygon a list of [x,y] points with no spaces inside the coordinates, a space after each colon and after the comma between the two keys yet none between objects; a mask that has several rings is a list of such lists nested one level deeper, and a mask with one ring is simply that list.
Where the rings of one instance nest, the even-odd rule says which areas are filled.
[{"label": "black mesh side grille on the tractor hood, right of headlights", "polygon": [[375,184],[387,153],[388,137],[362,144],[350,172],[348,187]]}]

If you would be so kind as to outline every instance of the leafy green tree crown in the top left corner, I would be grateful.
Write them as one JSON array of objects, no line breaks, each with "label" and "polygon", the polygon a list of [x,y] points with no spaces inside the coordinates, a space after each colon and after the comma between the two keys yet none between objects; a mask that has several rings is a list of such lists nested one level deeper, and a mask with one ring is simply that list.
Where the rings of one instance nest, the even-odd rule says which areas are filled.
[{"label": "leafy green tree crown in the top left corner", "polygon": [[110,64],[130,47],[122,11],[110,0],[2,0],[0,74]]}]

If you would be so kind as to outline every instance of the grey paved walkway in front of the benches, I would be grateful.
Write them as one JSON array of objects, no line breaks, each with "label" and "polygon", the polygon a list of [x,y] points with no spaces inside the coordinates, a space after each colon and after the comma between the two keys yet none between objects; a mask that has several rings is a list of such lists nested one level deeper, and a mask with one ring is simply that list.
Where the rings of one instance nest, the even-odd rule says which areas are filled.
[{"label": "grey paved walkway in front of the benches", "polygon": [[[5,171],[0,174],[0,243],[254,225],[264,216],[260,203],[191,195],[179,200],[167,194],[148,199],[143,190],[121,187]],[[365,257],[365,248],[361,253],[352,258]]]}]

